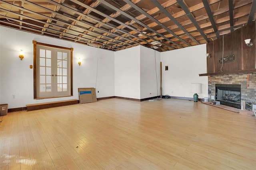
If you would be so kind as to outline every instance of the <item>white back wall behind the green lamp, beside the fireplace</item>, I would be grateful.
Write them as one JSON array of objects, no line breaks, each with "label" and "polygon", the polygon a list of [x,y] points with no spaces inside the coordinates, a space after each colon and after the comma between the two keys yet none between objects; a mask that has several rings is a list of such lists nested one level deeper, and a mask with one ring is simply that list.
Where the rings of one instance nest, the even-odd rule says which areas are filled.
[{"label": "white back wall behind the green lamp, beside the fireplace", "polygon": [[[193,98],[191,83],[202,83],[202,93],[198,98],[208,97],[208,77],[206,73],[206,44],[186,47],[161,53],[163,95]],[[165,71],[168,66],[168,71]]]}]

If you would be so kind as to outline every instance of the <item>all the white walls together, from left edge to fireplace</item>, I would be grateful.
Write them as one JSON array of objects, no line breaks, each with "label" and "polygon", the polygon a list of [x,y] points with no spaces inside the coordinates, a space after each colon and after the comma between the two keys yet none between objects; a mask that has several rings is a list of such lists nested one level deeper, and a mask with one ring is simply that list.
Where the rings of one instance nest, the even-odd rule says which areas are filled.
[{"label": "all the white walls together, from left edge to fireplace", "polygon": [[[73,95],[65,98],[33,99],[32,41],[73,47]],[[24,59],[18,58],[20,49]],[[96,88],[97,98],[120,96],[143,99],[160,95],[162,61],[163,95],[193,98],[191,82],[202,83],[199,98],[208,96],[206,45],[158,52],[143,46],[107,51],[0,26],[0,104],[8,108],[26,104],[78,99],[77,88]],[[78,58],[82,64],[78,66]],[[165,71],[165,66],[169,70]],[[97,93],[99,91],[99,93]],[[151,93],[151,94],[150,94]],[[15,99],[12,95],[15,95]]]}]

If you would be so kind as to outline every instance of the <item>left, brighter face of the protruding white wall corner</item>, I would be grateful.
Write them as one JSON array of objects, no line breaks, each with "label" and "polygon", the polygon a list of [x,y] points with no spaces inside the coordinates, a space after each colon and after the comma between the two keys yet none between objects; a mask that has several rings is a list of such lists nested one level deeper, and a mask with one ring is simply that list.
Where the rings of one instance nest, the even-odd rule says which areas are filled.
[{"label": "left, brighter face of the protruding white wall corner", "polygon": [[140,99],[140,46],[116,51],[115,96]]}]

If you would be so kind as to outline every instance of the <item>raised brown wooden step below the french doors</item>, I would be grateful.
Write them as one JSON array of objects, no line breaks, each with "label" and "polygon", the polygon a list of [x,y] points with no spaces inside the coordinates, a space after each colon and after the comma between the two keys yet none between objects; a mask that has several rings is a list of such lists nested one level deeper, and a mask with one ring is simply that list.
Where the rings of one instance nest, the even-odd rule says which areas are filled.
[{"label": "raised brown wooden step below the french doors", "polygon": [[73,104],[78,104],[78,100],[74,99],[74,100],[40,103],[40,104],[28,104],[26,106],[27,106],[27,111],[32,111],[32,110],[47,109],[47,108],[59,107],[59,106],[68,106]]}]

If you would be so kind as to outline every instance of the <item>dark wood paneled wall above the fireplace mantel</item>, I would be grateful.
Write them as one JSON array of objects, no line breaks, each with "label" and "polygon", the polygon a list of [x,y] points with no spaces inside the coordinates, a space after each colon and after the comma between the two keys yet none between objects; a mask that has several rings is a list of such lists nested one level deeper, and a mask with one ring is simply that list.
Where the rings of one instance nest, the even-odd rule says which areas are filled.
[{"label": "dark wood paneled wall above the fireplace mantel", "polygon": [[[221,73],[239,70],[251,70],[256,68],[256,22],[221,36],[207,44],[207,73]],[[252,47],[247,47],[244,40],[251,39]],[[224,50],[223,50],[224,49]],[[219,63],[219,59],[235,56],[234,61]]]}]

